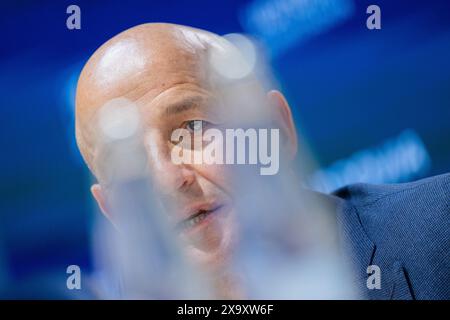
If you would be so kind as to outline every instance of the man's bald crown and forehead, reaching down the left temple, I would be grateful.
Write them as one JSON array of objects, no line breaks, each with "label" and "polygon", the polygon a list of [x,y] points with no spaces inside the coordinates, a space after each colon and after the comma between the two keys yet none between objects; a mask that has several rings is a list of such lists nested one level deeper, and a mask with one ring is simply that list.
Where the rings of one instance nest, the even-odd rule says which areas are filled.
[{"label": "man's bald crown and forehead, reaching down the left temple", "polygon": [[[223,41],[223,40],[222,40]],[[76,93],[76,137],[95,172],[95,120],[98,109],[121,97],[137,105],[175,85],[207,85],[202,66],[220,37],[190,27],[150,23],[128,29],[103,44],[86,63]]]}]

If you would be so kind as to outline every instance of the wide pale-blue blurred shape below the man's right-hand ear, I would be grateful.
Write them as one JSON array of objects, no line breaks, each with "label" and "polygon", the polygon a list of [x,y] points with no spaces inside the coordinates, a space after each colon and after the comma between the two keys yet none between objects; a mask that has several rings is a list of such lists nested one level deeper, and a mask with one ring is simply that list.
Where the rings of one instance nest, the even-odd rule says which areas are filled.
[{"label": "wide pale-blue blurred shape below the man's right-hand ear", "polygon": [[245,274],[249,297],[357,297],[340,255],[332,207],[298,188],[293,172],[270,177],[245,171],[238,169],[241,239],[235,266]]}]

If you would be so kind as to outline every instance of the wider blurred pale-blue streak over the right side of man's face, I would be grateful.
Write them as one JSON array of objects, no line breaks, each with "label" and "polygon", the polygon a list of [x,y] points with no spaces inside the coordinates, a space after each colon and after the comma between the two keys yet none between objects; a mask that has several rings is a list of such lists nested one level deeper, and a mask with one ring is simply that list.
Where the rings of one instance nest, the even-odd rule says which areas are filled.
[{"label": "wider blurred pale-blue streak over the right side of man's face", "polygon": [[[261,65],[264,59],[255,61],[267,72]],[[256,71],[233,84],[224,81],[226,85],[220,87],[227,124],[283,132],[266,96],[265,88],[273,88],[271,77]],[[280,145],[286,145],[285,135],[281,139]],[[355,298],[337,241],[336,212],[322,197],[300,187],[301,177],[314,163],[305,145],[299,150],[302,163],[296,166],[281,148],[280,171],[273,176],[262,176],[259,168],[248,164],[233,167],[240,231],[232,268],[242,275],[251,299]]]}]

